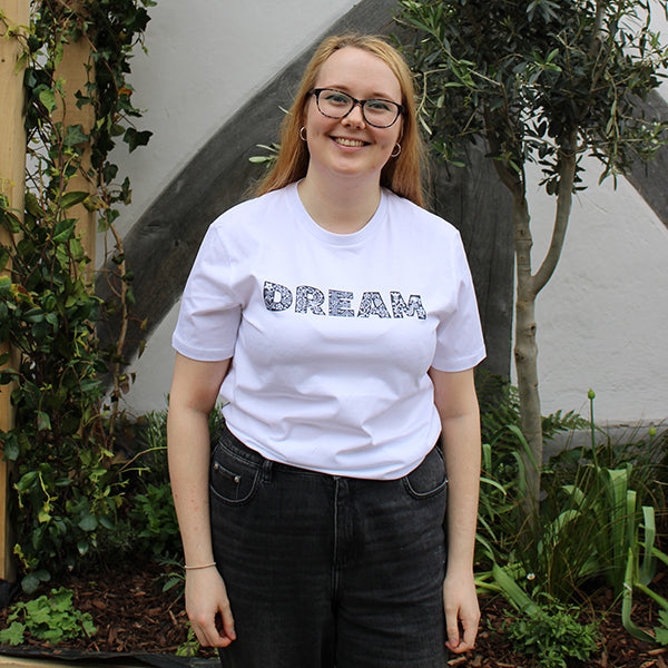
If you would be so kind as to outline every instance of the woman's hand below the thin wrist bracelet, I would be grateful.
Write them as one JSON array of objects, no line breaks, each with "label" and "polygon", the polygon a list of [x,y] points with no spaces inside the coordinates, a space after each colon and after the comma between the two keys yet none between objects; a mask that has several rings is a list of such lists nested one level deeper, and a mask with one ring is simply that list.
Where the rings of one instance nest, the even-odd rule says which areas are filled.
[{"label": "woman's hand below the thin wrist bracelet", "polygon": [[186,611],[203,647],[227,647],[236,639],[225,582],[215,567],[186,572]]}]

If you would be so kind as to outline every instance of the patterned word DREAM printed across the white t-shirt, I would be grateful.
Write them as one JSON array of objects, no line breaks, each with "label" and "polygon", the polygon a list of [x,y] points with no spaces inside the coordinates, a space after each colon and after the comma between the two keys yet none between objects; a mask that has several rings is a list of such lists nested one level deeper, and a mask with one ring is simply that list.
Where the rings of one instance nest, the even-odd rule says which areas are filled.
[{"label": "patterned word DREAM printed across the white t-shirt", "polygon": [[264,303],[268,311],[287,311],[294,303],[295,313],[312,313],[313,315],[331,315],[337,317],[404,317],[415,316],[419,320],[426,320],[426,311],[422,305],[420,295],[411,295],[409,301],[403,298],[396,291],[390,292],[390,306],[383,301],[380,292],[364,292],[360,298],[357,310],[353,307],[355,298],[352,292],[342,289],[327,291],[327,311],[325,304],[325,293],[311,285],[298,285],[293,292],[285,285],[265,281]]}]

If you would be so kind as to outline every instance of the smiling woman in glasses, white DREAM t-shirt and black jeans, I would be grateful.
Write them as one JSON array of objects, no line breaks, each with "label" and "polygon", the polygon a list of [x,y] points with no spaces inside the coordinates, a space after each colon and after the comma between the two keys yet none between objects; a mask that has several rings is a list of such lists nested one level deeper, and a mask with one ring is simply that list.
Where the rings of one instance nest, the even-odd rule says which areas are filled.
[{"label": "smiling woman in glasses, white DREAM t-shirt and black jeans", "polygon": [[169,465],[186,608],[223,666],[434,668],[473,647],[484,346],[421,155],[397,51],[330,38],[259,196],[195,262]]}]

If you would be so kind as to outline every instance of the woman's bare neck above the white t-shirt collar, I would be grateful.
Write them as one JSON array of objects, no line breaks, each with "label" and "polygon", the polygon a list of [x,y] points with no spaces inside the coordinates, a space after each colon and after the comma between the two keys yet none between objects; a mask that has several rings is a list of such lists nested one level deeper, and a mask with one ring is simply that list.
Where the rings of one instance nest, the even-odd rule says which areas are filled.
[{"label": "woman's bare neck above the white t-shirt collar", "polygon": [[318,178],[313,170],[308,170],[298,191],[308,215],[321,227],[336,234],[362,229],[381,202],[381,186],[375,179]]}]

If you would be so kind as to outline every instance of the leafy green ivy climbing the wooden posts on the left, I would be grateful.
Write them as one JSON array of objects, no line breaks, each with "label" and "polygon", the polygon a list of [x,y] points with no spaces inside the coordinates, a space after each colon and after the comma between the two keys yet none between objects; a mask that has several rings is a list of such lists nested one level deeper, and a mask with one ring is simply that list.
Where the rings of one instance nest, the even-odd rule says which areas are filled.
[{"label": "leafy green ivy climbing the wooden posts on the left", "polygon": [[[10,384],[16,407],[16,428],[0,439],[4,456],[14,462],[14,552],[29,573],[23,582],[29,589],[47,577],[43,571],[72,567],[99,549],[122,502],[102,406],[102,376],[109,369],[118,372],[119,361],[115,351],[100,350],[96,323],[108,308],[122,308],[127,316],[131,275],[117,248],[120,301],[101,304],[91,294],[90,258],[72,212],[81,204],[97,212],[100,228],[117,237],[115,206],[129,202],[130,188],[128,179],[115,185],[118,168],[108,157],[118,137],[134,150],[150,135],[131,122],[140,112],[130,101],[127,76],[151,4],[33,0],[27,32],[11,31],[23,47],[28,166],[23,218],[0,199],[0,225],[12,235],[0,247],[0,272],[6,272],[0,341],[11,350],[0,360],[7,365],[0,384]],[[95,72],[86,90],[76,92],[77,106],[95,109],[89,132],[63,122],[66,82],[58,75],[68,45],[81,41],[90,46],[86,67]],[[72,189],[76,178],[92,189]],[[114,406],[119,387],[117,373]]]}]

